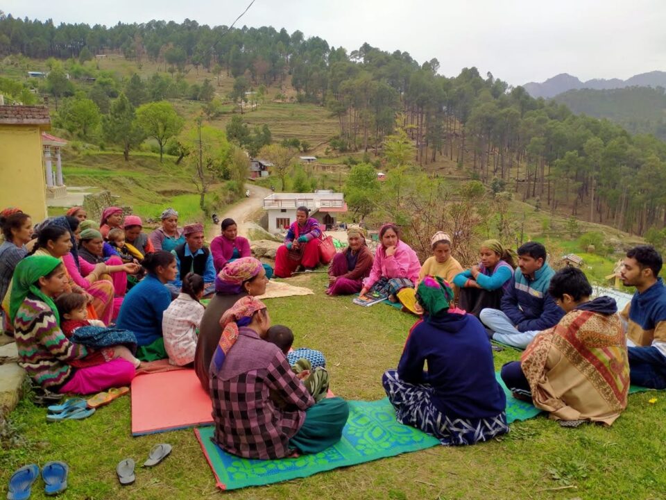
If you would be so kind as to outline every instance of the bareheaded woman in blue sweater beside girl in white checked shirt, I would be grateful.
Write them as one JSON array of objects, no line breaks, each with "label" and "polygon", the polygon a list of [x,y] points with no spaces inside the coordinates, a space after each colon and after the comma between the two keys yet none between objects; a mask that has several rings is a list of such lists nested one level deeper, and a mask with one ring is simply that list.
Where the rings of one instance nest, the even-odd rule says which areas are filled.
[{"label": "bareheaded woman in blue sweater beside girl in white checked shirt", "polygon": [[137,337],[137,358],[154,361],[168,358],[162,337],[162,314],[171,303],[165,285],[176,278],[176,257],[167,251],[148,253],[142,262],[148,275],[128,292],[116,326]]}]

